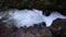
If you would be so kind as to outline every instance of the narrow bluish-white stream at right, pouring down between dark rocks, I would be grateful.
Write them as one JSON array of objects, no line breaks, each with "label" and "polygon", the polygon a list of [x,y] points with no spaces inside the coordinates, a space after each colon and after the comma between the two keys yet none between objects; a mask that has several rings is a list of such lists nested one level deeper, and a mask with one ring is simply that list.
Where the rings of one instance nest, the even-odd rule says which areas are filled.
[{"label": "narrow bluish-white stream at right, pouring down between dark rocks", "polygon": [[46,26],[51,26],[53,21],[56,20],[56,18],[66,18],[66,16],[62,15],[58,12],[52,12],[50,16],[44,15]]}]

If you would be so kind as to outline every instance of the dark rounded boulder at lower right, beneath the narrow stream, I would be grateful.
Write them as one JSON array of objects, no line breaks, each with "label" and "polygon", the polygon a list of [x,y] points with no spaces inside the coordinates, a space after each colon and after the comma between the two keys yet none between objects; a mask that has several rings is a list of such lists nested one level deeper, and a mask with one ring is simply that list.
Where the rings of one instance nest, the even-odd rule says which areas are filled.
[{"label": "dark rounded boulder at lower right, beneath the narrow stream", "polygon": [[66,18],[55,20],[50,28],[55,37],[66,36]]}]

